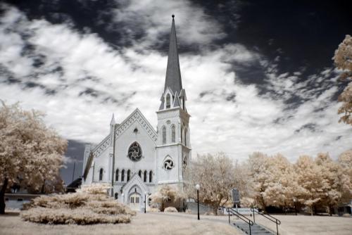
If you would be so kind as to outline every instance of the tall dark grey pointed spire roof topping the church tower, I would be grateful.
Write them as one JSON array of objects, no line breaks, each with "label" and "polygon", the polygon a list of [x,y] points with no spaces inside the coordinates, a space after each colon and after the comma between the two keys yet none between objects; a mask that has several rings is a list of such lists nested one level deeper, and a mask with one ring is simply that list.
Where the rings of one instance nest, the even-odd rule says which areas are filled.
[{"label": "tall dark grey pointed spire roof topping the church tower", "polygon": [[165,88],[170,87],[172,92],[180,94],[182,90],[182,80],[180,71],[180,61],[177,51],[177,38],[175,29],[175,15],[172,15],[172,25],[170,32],[170,44],[168,54],[168,68],[166,69]]}]

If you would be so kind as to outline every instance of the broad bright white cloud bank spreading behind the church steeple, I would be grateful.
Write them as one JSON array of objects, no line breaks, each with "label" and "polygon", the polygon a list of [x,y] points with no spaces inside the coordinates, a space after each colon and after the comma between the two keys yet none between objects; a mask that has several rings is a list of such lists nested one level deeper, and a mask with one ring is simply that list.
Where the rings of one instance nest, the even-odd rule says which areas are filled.
[{"label": "broad bright white cloud bank spreading behind the church steeple", "polygon": [[[73,23],[30,20],[13,6],[2,8],[0,99],[44,110],[46,122],[67,139],[97,144],[108,134],[112,113],[122,122],[135,108],[156,127],[167,55],[150,45],[168,41],[175,13],[179,43],[199,48],[180,54],[194,157],[215,151],[239,159],[253,151],[291,160],[320,151],[337,157],[351,144],[351,128],[338,123],[334,70],[279,74],[279,58],[269,61],[235,41],[209,46],[226,33],[189,1],[129,1],[111,9],[125,27],[106,27],[132,42],[118,50]],[[245,84],[236,74],[252,65],[263,71],[260,84]]]}]

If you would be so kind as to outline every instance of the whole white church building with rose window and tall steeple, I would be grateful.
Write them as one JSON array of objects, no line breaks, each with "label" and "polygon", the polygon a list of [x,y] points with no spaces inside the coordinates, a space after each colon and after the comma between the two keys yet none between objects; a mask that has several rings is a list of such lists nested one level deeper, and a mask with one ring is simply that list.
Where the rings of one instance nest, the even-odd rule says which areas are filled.
[{"label": "whole white church building with rose window and tall steeple", "polygon": [[110,133],[96,146],[86,145],[82,184],[108,183],[118,201],[136,210],[158,186],[183,188],[191,158],[187,96],[182,88],[174,15],[161,106],[154,129],[137,108],[120,124],[113,116]]}]

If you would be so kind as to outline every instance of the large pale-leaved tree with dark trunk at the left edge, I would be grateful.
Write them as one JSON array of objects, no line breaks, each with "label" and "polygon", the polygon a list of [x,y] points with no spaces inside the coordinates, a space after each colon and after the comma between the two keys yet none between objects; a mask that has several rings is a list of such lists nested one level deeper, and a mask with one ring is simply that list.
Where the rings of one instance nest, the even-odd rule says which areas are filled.
[{"label": "large pale-leaved tree with dark trunk at the left edge", "polygon": [[18,103],[0,108],[0,213],[5,212],[4,193],[13,184],[34,190],[56,182],[67,141],[46,127],[44,115],[23,110]]}]

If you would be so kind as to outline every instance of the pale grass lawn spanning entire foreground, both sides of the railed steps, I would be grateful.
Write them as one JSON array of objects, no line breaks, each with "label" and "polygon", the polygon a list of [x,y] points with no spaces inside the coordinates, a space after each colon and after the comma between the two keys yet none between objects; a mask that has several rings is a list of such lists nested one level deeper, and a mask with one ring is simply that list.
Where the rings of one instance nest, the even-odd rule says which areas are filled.
[{"label": "pale grass lawn spanning entire foreground, both sides of the railed steps", "polygon": [[[279,234],[352,234],[352,217],[309,215],[274,215],[281,220]],[[253,219],[253,217],[252,217]],[[235,222],[235,217],[231,218]],[[275,230],[275,224],[256,215],[256,222]],[[137,213],[130,224],[48,225],[24,222],[18,212],[0,215],[0,235],[3,234],[129,234],[129,235],[203,235],[242,234],[228,224],[227,216],[196,215],[168,212]]]}]

